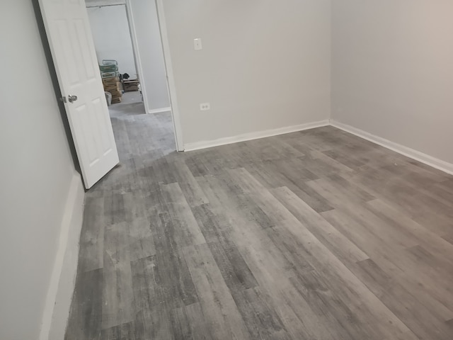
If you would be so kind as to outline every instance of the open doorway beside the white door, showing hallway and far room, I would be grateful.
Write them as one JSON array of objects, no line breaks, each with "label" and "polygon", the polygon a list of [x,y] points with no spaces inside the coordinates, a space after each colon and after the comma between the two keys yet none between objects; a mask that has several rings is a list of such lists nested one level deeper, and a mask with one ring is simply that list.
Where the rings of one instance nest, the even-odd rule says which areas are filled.
[{"label": "open doorway beside the white door, showing hallway and far room", "polygon": [[135,154],[133,148],[137,147],[161,149],[164,153],[176,150],[166,64],[153,5],[150,1],[114,4],[86,0],[113,131],[123,160]]}]

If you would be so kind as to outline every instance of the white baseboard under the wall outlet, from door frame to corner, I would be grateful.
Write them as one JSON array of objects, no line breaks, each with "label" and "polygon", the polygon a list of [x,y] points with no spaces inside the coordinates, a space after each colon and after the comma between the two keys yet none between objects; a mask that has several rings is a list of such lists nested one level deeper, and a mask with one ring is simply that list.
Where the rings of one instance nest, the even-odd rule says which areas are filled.
[{"label": "white baseboard under the wall outlet, from door frame to corner", "polygon": [[224,137],[217,140],[204,140],[201,142],[188,143],[184,145],[184,151],[194,151],[199,149],[206,149],[208,147],[219,147],[220,145],[228,145],[238,142],[246,142],[247,140],[258,140],[265,137],[273,137],[277,135],[285,135],[291,132],[298,132],[314,128],[321,128],[322,126],[329,125],[328,120],[321,120],[320,122],[306,123],[301,125],[287,126],[285,128],[278,128],[273,130],[264,130],[258,132],[248,132],[243,135],[236,135],[233,137]]}]

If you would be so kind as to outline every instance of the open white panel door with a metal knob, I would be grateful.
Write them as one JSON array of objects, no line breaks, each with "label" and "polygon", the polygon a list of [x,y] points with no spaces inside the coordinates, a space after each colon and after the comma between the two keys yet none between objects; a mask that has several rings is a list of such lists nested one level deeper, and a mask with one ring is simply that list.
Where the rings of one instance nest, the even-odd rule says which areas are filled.
[{"label": "open white panel door with a metal knob", "polygon": [[85,187],[118,154],[84,0],[39,0]]}]

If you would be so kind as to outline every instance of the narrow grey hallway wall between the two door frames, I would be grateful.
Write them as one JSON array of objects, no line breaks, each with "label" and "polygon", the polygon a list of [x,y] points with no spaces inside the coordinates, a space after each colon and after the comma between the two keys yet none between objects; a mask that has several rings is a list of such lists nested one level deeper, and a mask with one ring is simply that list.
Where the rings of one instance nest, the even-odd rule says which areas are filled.
[{"label": "narrow grey hallway wall between the two door frames", "polygon": [[156,4],[149,0],[130,0],[130,17],[137,37],[137,57],[142,67],[142,91],[148,111],[169,108],[170,97],[162,51]]}]

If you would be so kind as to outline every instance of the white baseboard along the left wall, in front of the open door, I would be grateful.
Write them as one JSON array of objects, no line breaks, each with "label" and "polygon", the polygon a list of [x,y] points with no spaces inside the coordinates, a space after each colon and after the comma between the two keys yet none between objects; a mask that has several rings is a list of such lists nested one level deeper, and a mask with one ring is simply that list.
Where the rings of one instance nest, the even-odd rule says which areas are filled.
[{"label": "white baseboard along the left wall, in front of the open door", "polygon": [[74,172],[64,207],[57,256],[42,317],[40,340],[64,339],[76,283],[79,239],[84,219],[84,198],[85,191],[80,174]]}]

